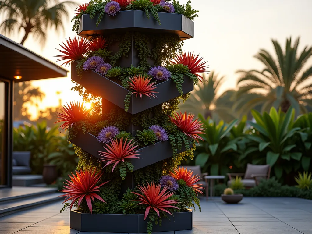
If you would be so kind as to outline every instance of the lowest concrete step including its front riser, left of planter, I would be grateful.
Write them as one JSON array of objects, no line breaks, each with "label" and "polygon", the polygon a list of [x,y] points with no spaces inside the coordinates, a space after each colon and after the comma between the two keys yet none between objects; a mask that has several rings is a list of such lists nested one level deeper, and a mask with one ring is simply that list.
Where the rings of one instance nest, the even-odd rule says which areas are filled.
[{"label": "lowest concrete step including its front riser, left of planter", "polygon": [[29,198],[13,200],[0,204],[0,217],[12,214],[14,212],[27,210],[42,204],[48,204],[55,201],[64,200],[64,197],[59,197],[62,193],[52,193],[46,195],[37,195]]}]

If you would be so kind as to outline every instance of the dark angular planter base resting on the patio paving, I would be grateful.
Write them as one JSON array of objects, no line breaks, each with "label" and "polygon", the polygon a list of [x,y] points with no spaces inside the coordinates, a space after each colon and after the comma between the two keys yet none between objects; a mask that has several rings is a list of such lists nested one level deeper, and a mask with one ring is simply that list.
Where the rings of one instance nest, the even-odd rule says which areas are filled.
[{"label": "dark angular planter base resting on the patio paving", "polygon": [[[173,213],[162,218],[162,225],[153,223],[153,232],[191,230],[193,210]],[[86,214],[70,211],[70,227],[81,232],[146,233],[148,218],[144,214]]]}]

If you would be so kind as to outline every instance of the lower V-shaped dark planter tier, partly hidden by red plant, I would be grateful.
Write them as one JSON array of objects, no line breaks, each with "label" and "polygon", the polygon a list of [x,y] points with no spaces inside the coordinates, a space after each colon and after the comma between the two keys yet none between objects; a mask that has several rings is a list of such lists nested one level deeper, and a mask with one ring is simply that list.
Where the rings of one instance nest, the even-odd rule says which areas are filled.
[{"label": "lower V-shaped dark planter tier, partly hidden by red plant", "polygon": [[[103,146],[105,146],[104,143],[98,142],[97,138],[86,132],[83,134],[82,131],[79,131],[76,136],[71,139],[71,143],[79,146],[79,148],[85,150],[92,156],[96,158],[102,158],[100,155],[98,155],[98,151],[105,151]],[[193,147],[190,145],[190,147]],[[185,148],[182,147],[181,150],[178,152],[184,152]],[[171,144],[169,141],[159,141],[156,142],[154,145],[148,145],[141,149],[139,149],[139,156],[140,158],[131,158],[130,161],[132,165],[134,166],[134,171],[147,167],[153,163],[157,163],[159,161],[162,161],[164,159],[170,158],[173,155]]]}]

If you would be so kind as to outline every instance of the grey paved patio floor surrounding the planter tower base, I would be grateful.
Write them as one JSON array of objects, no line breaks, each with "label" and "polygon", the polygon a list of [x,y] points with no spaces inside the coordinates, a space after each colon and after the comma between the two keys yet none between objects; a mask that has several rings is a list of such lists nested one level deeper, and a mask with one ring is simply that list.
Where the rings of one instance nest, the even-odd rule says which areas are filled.
[{"label": "grey paved patio floor surrounding the planter tower base", "polygon": [[[60,214],[61,207],[57,202],[1,217],[0,234],[98,233],[70,229],[69,211]],[[312,234],[312,200],[245,197],[240,204],[224,204],[215,197],[202,199],[201,207],[194,212],[193,230],[161,234]]]}]

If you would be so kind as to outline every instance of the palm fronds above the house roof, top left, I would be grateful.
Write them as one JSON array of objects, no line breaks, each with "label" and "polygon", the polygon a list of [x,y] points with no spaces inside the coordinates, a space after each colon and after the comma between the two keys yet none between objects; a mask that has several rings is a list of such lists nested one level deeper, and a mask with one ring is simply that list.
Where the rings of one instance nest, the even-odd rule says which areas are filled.
[{"label": "palm fronds above the house roof, top left", "polygon": [[46,41],[46,31],[49,27],[60,27],[64,30],[62,18],[68,18],[66,5],[76,4],[71,1],[58,0],[1,0],[0,13],[7,13],[7,19],[0,25],[2,33],[12,33],[16,30],[25,30],[21,41],[23,45],[29,33],[41,45]]}]

